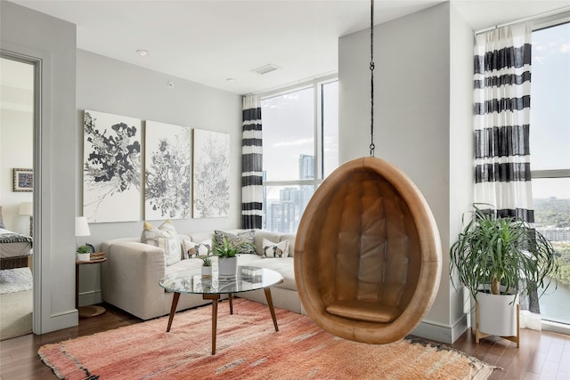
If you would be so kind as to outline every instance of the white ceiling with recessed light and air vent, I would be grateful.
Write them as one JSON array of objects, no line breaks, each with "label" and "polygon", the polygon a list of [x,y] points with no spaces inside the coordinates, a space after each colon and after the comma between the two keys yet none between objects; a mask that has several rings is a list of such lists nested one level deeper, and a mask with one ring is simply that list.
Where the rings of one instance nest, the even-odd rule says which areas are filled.
[{"label": "white ceiling with recessed light and air vent", "polygon": [[[232,93],[292,85],[338,69],[338,37],[370,27],[369,0],[75,0],[13,3],[77,24],[77,48]],[[375,24],[443,1],[376,0]],[[570,5],[452,0],[474,30]],[[150,52],[146,57],[137,49]],[[263,76],[252,69],[273,64]],[[228,81],[233,78],[234,81]]]}]

